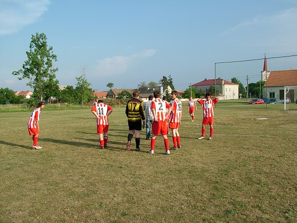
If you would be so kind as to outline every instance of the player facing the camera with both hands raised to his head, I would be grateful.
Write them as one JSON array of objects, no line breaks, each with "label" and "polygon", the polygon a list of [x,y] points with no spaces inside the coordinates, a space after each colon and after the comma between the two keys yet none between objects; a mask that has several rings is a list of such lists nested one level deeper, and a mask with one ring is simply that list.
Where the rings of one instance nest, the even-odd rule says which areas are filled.
[{"label": "player facing the camera with both hands raised to his head", "polygon": [[198,139],[204,139],[205,125],[210,125],[210,137],[212,140],[213,135],[213,109],[214,105],[218,102],[219,97],[211,96],[209,93],[205,94],[203,99],[199,98],[198,103],[202,105],[203,120],[202,120],[202,134]]}]

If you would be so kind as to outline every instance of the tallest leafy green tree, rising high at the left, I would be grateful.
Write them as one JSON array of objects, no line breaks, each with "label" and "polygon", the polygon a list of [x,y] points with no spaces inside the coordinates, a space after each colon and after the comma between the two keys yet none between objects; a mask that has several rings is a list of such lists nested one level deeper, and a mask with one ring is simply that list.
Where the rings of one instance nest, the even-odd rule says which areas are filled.
[{"label": "tallest leafy green tree, rising high at the left", "polygon": [[58,83],[55,80],[55,72],[58,68],[53,68],[52,61],[57,61],[57,56],[53,54],[52,47],[48,47],[47,37],[44,33],[32,35],[30,51],[26,52],[28,60],[23,64],[23,69],[13,71],[13,75],[20,76],[19,80],[28,79],[27,86],[34,89],[34,92],[43,97],[46,95],[47,84],[54,85]]}]

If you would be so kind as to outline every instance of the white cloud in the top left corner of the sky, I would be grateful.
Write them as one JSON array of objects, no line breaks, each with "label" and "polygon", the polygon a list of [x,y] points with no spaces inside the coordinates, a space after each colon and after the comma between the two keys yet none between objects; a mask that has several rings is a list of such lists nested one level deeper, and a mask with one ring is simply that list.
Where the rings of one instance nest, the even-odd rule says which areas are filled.
[{"label": "white cloud in the top left corner of the sky", "polygon": [[0,35],[18,32],[48,10],[49,0],[1,0]]}]

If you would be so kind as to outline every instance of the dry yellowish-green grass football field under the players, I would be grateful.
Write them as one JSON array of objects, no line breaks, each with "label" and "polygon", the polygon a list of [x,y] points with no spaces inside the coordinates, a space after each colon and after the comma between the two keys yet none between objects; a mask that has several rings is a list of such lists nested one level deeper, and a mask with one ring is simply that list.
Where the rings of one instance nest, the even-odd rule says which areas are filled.
[{"label": "dry yellowish-green grass football field under the players", "polygon": [[297,222],[296,110],[219,102],[210,141],[198,140],[201,108],[191,122],[185,105],[182,148],[168,156],[160,136],[147,153],[145,131],[142,150],[126,151],[124,107],[109,116],[104,150],[91,108],[46,106],[41,150],[31,111],[0,113],[0,223]]}]

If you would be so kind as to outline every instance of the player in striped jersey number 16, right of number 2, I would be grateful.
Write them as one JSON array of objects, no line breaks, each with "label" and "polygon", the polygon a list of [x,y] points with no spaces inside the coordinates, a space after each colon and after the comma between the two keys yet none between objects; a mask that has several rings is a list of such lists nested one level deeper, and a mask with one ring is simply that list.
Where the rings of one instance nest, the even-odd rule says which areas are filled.
[{"label": "player in striped jersey number 16, right of number 2", "polygon": [[172,98],[172,110],[170,114],[170,121],[169,121],[169,128],[171,128],[172,131],[172,141],[173,141],[173,147],[172,149],[177,150],[177,148],[181,148],[181,142],[180,142],[180,134],[178,132],[178,128],[181,124],[182,119],[182,103],[177,98],[177,91],[171,92],[171,98]]}]

